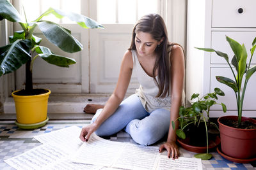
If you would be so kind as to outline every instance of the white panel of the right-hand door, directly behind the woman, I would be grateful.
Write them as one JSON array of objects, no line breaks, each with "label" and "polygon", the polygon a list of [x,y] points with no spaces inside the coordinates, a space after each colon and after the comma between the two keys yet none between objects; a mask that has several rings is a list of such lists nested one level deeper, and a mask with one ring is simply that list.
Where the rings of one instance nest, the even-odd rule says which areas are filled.
[{"label": "white panel of the right-hand door, directly behind the woman", "polygon": [[[111,93],[118,80],[120,64],[125,51],[131,44],[132,24],[104,25],[105,29],[90,30],[90,91]],[[138,88],[136,77],[132,75],[127,92]]]}]

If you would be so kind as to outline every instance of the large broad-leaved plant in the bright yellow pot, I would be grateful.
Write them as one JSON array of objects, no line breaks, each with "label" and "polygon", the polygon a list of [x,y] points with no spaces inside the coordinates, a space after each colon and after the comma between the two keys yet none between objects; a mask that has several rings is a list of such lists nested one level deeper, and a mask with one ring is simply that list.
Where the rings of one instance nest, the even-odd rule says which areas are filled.
[{"label": "large broad-leaved plant in the bright yellow pot", "polygon": [[48,120],[47,101],[51,91],[48,89],[33,89],[32,70],[35,59],[41,57],[49,64],[60,67],[68,67],[70,64],[76,63],[74,59],[52,53],[49,48],[40,46],[42,39],[33,35],[35,28],[38,27],[45,38],[64,52],[74,53],[83,49],[83,45],[71,35],[70,30],[49,20],[42,20],[50,14],[57,18],[68,17],[86,29],[104,28],[83,15],[54,8],[49,8],[36,20],[28,22],[26,14],[26,20],[23,20],[9,1],[0,1],[0,20],[6,19],[10,22],[17,22],[22,28],[21,31],[14,32],[13,36],[10,36],[9,45],[0,47],[0,76],[12,73],[26,64],[25,89],[12,93],[17,113],[16,124],[25,129],[41,127]]}]

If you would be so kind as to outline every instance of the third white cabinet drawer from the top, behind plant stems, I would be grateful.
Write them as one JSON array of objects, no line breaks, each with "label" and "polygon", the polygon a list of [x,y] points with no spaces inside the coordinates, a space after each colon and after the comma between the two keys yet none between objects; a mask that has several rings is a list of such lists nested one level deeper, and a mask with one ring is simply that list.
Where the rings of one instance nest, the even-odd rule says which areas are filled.
[{"label": "third white cabinet drawer from the top, behind plant stems", "polygon": [[[234,80],[229,67],[211,67],[211,83],[210,89],[213,92],[215,87],[219,87],[225,93],[225,96],[218,97],[218,103],[224,103],[227,110],[237,110],[236,95],[233,89],[216,80],[216,76],[225,76]],[[253,74],[248,81],[246,92],[244,95],[243,110],[256,110],[256,74]],[[212,110],[221,110],[221,106],[212,106]]]}]

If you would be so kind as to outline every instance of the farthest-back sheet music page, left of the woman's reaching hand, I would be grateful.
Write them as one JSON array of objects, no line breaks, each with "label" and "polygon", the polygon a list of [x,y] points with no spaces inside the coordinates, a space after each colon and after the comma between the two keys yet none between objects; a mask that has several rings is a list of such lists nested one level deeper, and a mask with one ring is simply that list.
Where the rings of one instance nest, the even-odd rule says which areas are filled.
[{"label": "farthest-back sheet music page, left of the woman's reaching hand", "polygon": [[66,127],[63,129],[60,129],[58,131],[52,131],[46,134],[40,134],[38,136],[35,136],[34,138],[40,143],[51,143],[51,144],[58,144],[60,143],[79,143],[82,142],[81,139],[79,139],[81,128],[77,126],[71,126]]}]

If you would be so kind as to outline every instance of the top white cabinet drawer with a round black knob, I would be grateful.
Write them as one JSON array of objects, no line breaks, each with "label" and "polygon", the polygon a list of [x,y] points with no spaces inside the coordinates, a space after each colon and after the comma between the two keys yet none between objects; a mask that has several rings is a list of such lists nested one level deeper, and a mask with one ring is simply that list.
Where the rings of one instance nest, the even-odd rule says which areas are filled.
[{"label": "top white cabinet drawer with a round black knob", "polygon": [[212,27],[256,27],[255,6],[255,0],[212,0]]}]

